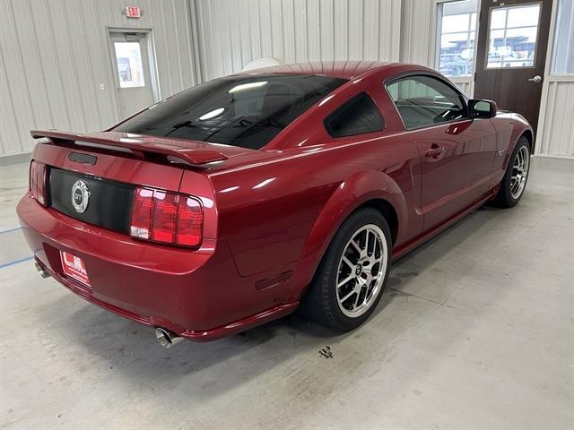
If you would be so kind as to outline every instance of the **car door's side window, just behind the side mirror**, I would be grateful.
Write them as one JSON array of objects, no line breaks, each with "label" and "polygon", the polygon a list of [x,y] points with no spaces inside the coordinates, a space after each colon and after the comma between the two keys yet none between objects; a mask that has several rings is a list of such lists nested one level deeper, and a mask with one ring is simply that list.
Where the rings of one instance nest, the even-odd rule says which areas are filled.
[{"label": "car door's side window, just behind the side mirror", "polygon": [[457,90],[431,76],[407,76],[387,85],[407,130],[467,117]]}]

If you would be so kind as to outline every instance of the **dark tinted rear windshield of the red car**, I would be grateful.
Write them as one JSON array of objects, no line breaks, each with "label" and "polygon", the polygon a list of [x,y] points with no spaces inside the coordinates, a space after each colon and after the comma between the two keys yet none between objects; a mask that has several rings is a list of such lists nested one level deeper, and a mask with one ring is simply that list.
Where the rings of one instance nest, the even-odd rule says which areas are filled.
[{"label": "dark tinted rear windshield of the red car", "polygon": [[229,76],[165,99],[114,128],[258,150],[346,82],[329,76]]}]

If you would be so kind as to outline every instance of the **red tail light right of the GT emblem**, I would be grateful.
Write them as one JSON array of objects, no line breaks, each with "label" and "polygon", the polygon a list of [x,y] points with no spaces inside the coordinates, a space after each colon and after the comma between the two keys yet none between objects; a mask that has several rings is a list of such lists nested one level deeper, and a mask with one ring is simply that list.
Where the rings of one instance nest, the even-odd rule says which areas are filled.
[{"label": "red tail light right of the GT emblem", "polygon": [[137,187],[130,235],[162,244],[198,246],[204,211],[192,196]]}]

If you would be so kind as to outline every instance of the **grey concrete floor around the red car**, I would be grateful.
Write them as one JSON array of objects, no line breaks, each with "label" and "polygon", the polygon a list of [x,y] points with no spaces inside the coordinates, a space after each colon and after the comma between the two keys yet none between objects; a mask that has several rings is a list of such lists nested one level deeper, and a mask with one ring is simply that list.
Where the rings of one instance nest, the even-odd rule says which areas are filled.
[{"label": "grey concrete floor around the red car", "polygon": [[27,172],[0,168],[0,428],[574,428],[573,161],[396,262],[357,331],[291,316],[170,351],[39,278],[10,230]]}]

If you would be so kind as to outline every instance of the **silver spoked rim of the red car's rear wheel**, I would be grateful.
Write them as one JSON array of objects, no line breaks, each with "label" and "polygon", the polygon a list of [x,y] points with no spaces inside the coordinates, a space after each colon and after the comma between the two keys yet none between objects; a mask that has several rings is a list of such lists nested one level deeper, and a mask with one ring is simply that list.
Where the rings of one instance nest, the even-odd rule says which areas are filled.
[{"label": "silver spoked rim of the red car's rear wheel", "polygon": [[387,270],[387,240],[375,224],[359,228],[344,246],[337,270],[336,297],[341,312],[356,318],[376,301]]}]

